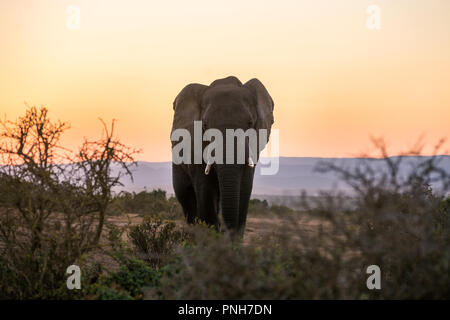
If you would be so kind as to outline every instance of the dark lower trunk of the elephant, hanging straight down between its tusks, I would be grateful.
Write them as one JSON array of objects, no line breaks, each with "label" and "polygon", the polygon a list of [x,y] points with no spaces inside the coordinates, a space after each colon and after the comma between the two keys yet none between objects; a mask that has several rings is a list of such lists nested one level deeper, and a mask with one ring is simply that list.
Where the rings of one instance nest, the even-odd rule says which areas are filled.
[{"label": "dark lower trunk of the elephant, hanging straight down between its tusks", "polygon": [[217,165],[217,177],[220,189],[220,204],[225,226],[236,231],[239,224],[239,197],[242,179],[242,165]]}]

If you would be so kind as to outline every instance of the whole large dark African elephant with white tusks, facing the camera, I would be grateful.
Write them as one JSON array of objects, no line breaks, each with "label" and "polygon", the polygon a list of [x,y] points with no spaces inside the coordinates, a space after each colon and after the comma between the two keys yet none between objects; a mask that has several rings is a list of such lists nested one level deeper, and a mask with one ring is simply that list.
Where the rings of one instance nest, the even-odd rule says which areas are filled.
[{"label": "whole large dark African elephant with white tusks, facing the camera", "polygon": [[[256,132],[259,129],[266,129],[267,132],[265,138],[258,137],[259,147],[253,158],[246,140],[246,163],[210,163],[203,159],[197,164],[193,161],[172,163],[173,188],[188,223],[198,218],[219,227],[218,214],[221,211],[226,228],[243,235],[253,187],[254,164],[268,141],[274,121],[273,107],[271,96],[258,79],[242,84],[238,78],[230,76],[218,79],[209,86],[191,83],[177,95],[173,103],[172,134],[176,129],[186,129],[194,135],[194,121],[201,121],[202,133],[216,129],[224,137],[227,129],[246,131],[253,128]],[[172,134],[173,151],[177,141],[174,141]],[[193,141],[191,146],[193,159]],[[206,142],[202,141],[202,154],[206,146]],[[223,157],[227,154],[231,152],[224,147]]]}]

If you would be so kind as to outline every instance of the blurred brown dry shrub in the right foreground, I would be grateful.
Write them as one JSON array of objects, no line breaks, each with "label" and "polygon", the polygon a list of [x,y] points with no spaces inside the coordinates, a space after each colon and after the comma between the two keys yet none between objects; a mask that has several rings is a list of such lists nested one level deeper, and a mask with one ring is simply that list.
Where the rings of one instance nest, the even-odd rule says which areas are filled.
[{"label": "blurred brown dry shrub in the right foreground", "polygon": [[[146,298],[450,298],[446,158],[390,158],[376,143],[378,160],[319,168],[340,174],[353,193],[305,200],[302,214],[279,216],[284,223],[272,234],[246,244],[197,234]],[[411,162],[408,171],[402,161]],[[381,290],[366,286],[370,265],[381,269]]]}]

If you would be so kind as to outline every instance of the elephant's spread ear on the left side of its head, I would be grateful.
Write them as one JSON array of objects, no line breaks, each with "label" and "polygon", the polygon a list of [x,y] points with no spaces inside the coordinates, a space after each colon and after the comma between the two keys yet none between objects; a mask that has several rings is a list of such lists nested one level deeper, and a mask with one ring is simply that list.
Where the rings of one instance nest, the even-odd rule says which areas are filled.
[{"label": "elephant's spread ear on the left side of its head", "polygon": [[191,83],[181,90],[173,101],[172,131],[175,129],[187,129],[193,134],[194,121],[201,120],[202,96],[208,86]]}]

